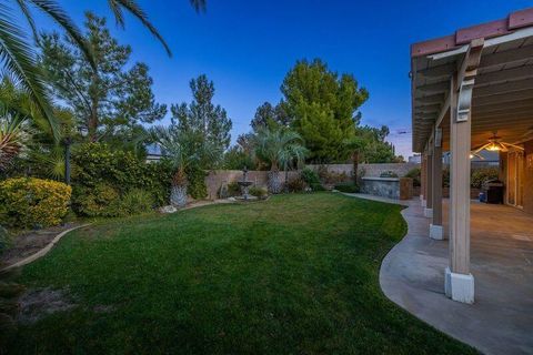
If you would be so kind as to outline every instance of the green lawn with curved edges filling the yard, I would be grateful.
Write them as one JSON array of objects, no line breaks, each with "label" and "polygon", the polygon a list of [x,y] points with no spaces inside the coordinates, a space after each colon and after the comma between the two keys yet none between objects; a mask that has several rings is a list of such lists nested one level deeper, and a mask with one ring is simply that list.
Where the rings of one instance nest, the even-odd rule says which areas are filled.
[{"label": "green lawn with curved edges filling the yard", "polygon": [[23,270],[78,306],[9,353],[474,353],[382,294],[405,227],[399,206],[331,193],[102,223]]}]

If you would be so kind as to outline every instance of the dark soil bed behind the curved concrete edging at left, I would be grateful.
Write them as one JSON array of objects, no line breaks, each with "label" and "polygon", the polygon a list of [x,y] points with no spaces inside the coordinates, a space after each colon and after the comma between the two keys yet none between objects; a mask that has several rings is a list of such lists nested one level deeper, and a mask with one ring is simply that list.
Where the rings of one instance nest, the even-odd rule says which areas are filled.
[{"label": "dark soil bed behind the curved concrete edging at left", "polygon": [[56,235],[74,227],[77,224],[67,223],[64,225],[54,226],[46,230],[31,231],[17,235],[13,244],[0,255],[0,268],[14,264],[48,245]]}]

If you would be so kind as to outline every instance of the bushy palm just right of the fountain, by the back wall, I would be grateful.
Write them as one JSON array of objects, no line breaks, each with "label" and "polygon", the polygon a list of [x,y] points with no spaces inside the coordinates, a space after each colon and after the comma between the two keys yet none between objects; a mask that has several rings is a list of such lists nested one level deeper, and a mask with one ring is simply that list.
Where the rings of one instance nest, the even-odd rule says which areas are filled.
[{"label": "bushy palm just right of the fountain, by the back wall", "polygon": [[303,140],[294,131],[284,128],[261,128],[254,136],[255,155],[270,165],[269,191],[280,193],[282,190],[280,168],[294,160],[302,162],[308,154]]}]

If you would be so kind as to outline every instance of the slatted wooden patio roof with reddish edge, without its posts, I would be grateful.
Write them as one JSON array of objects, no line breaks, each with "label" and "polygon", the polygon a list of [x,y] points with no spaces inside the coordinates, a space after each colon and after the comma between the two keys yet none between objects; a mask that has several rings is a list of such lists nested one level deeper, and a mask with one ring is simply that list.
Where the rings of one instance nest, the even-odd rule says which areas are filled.
[{"label": "slatted wooden patio roof with reddish edge, without its posts", "polygon": [[519,142],[533,129],[533,8],[506,19],[411,48],[413,151],[422,152],[433,128],[449,146],[451,78],[472,40],[484,39],[472,93],[472,148],[494,131]]}]

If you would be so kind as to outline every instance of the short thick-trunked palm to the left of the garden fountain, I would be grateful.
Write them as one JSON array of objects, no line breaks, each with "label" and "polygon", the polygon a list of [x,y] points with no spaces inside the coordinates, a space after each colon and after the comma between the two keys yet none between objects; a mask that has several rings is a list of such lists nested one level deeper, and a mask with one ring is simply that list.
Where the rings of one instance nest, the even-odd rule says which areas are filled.
[{"label": "short thick-trunked palm to the left of the garden fountain", "polygon": [[149,141],[159,144],[161,152],[167,159],[170,159],[175,173],[172,176],[172,190],[170,193],[170,204],[183,207],[187,204],[187,170],[194,164],[200,164],[202,158],[209,161],[220,156],[220,152],[214,145],[204,142],[198,149],[197,136],[187,131],[179,130],[177,126],[153,126],[149,130]]}]

